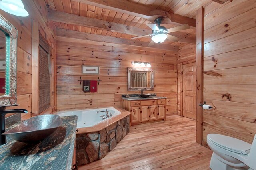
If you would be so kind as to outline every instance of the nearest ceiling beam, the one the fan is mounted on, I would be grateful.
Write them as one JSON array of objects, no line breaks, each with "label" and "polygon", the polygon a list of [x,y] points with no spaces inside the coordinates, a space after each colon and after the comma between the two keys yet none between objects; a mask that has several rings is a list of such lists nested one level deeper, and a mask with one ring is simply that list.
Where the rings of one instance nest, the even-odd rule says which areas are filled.
[{"label": "nearest ceiling beam, the one the fan is mounted on", "polygon": [[168,13],[161,10],[153,10],[149,6],[137,4],[126,0],[73,0],[76,2],[97,6],[100,8],[107,8],[117,12],[126,13],[132,16],[139,16],[150,20],[154,23],[154,19],[158,16],[164,16],[165,24],[188,24],[191,28],[196,28],[196,20],[189,17],[184,17],[178,14]]}]

